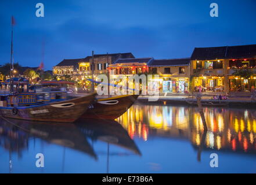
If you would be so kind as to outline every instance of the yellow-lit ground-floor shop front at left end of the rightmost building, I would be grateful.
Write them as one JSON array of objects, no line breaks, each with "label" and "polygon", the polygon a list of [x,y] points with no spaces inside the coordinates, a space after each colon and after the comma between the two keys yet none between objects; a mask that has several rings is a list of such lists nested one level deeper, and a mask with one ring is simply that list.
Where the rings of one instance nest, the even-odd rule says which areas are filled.
[{"label": "yellow-lit ground-floor shop front at left end of the rightmost building", "polygon": [[223,92],[223,76],[200,76],[194,77],[194,91],[199,92]]}]

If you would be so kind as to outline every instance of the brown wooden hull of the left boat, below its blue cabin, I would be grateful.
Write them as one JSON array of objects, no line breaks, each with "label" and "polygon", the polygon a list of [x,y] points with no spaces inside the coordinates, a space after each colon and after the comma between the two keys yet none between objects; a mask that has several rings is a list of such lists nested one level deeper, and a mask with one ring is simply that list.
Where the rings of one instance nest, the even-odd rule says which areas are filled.
[{"label": "brown wooden hull of the left boat, below its blue cabin", "polygon": [[[16,95],[9,97],[16,98]],[[17,107],[0,106],[0,115],[21,120],[73,122],[87,110],[89,103],[92,102],[94,97],[95,94],[89,94],[85,97],[60,102],[43,103],[41,105]]]}]

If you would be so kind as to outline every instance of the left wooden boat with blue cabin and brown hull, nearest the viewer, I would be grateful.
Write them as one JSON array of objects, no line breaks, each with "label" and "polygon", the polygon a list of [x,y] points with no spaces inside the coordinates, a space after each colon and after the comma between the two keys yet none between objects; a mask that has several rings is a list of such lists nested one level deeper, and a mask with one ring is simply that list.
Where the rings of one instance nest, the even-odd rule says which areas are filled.
[{"label": "left wooden boat with blue cabin and brown hull, nearest the viewer", "polygon": [[29,92],[27,87],[28,82],[21,82],[20,79],[10,83],[9,94],[0,94],[0,116],[21,120],[73,122],[88,109],[96,95],[93,93],[66,99],[66,92],[47,91],[44,92],[44,98],[38,101],[37,92]]}]

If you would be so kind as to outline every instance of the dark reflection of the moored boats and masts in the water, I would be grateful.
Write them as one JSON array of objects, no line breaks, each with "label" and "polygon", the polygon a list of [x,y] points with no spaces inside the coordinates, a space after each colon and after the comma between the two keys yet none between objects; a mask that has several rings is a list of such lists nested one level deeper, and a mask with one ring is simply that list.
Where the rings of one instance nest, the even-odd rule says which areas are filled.
[{"label": "dark reflection of the moored boats and masts in the water", "polygon": [[[12,172],[13,153],[17,153],[22,158],[22,152],[28,150],[28,142],[32,142],[35,138],[63,146],[62,171],[64,171],[66,148],[81,151],[94,160],[98,160],[98,155],[92,146],[96,140],[107,143],[107,158],[119,155],[119,153],[111,153],[109,145],[122,147],[141,156],[134,140],[116,121],[83,119],[76,121],[75,124],[56,124],[2,118],[0,120],[0,146],[9,151],[10,173]],[[109,172],[109,160],[106,165],[107,172]]]}]

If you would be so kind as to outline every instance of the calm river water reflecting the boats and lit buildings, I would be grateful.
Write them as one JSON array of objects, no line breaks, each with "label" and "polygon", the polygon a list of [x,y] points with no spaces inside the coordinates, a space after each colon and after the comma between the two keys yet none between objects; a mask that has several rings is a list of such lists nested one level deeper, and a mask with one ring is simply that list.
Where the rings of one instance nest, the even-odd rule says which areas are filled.
[{"label": "calm river water reflecting the boats and lit buildings", "polygon": [[256,110],[204,115],[208,131],[197,108],[138,103],[116,121],[1,119],[0,172],[255,173]]}]

